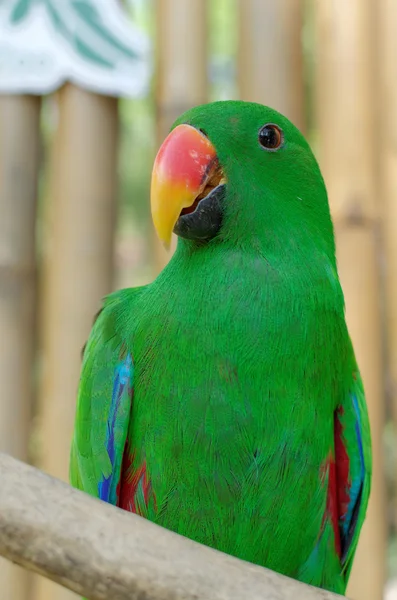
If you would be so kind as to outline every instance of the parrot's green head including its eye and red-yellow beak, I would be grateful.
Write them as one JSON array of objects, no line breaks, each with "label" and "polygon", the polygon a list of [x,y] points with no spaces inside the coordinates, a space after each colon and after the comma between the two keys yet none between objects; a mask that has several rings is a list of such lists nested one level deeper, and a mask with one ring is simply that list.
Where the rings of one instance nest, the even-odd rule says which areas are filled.
[{"label": "parrot's green head including its eye and red-yellow beak", "polygon": [[327,193],[314,155],[284,116],[221,101],[184,113],[155,159],[151,209],[159,238],[263,251],[315,242],[333,260]]}]

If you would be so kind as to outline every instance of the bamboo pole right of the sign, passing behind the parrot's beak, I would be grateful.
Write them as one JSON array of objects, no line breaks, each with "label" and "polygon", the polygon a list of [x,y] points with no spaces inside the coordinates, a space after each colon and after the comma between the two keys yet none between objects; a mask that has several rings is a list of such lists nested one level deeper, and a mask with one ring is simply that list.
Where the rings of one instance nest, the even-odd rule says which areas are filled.
[{"label": "bamboo pole right of the sign, passing behind the parrot's beak", "polygon": [[[177,117],[207,101],[207,6],[204,0],[157,0],[156,7],[156,118],[160,145]],[[156,270],[160,270],[170,254],[154,239]]]}]

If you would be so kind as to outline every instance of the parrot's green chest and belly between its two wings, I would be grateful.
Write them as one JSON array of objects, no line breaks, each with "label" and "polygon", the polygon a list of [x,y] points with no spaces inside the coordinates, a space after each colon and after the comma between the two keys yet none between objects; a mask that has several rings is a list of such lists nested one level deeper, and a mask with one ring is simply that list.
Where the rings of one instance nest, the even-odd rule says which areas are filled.
[{"label": "parrot's green chest and belly between its two wings", "polygon": [[341,340],[326,311],[263,281],[208,273],[145,298],[129,444],[155,498],[143,516],[282,570],[321,528]]}]

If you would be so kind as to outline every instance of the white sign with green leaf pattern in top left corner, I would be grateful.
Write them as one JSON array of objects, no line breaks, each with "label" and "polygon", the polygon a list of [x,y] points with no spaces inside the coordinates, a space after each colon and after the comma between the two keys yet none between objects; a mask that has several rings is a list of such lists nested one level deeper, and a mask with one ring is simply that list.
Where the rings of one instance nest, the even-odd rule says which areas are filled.
[{"label": "white sign with green leaf pattern in top left corner", "polygon": [[149,42],[118,0],[0,0],[0,93],[47,94],[71,81],[141,96]]}]

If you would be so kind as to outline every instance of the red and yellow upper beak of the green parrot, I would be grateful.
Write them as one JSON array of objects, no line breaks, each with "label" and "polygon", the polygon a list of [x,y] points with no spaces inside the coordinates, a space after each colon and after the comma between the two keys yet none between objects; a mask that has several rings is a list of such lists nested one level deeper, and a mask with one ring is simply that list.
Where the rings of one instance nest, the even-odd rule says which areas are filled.
[{"label": "red and yellow upper beak of the green parrot", "polygon": [[157,234],[167,246],[182,210],[194,204],[217,162],[209,139],[190,125],[178,125],[165,139],[154,161],[150,202]]}]

